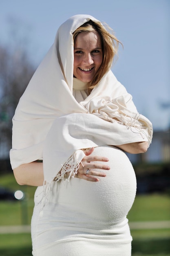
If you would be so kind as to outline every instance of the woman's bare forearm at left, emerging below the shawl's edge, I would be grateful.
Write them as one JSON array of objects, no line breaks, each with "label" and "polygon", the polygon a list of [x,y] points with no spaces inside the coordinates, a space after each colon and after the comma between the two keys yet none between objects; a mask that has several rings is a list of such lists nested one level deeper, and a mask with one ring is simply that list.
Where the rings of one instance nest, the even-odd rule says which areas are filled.
[{"label": "woman's bare forearm at left, emerging below the shawl's edge", "polygon": [[20,185],[42,186],[44,182],[42,162],[22,164],[13,169],[16,181]]}]

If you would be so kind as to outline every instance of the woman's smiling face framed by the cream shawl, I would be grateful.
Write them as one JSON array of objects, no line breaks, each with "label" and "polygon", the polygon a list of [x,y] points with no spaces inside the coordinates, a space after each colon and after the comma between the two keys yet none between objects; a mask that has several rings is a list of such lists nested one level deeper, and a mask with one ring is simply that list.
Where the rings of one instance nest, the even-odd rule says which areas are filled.
[{"label": "woman's smiling face framed by the cream shawl", "polygon": [[102,64],[103,53],[97,32],[81,32],[74,42],[74,76],[82,82],[91,82]]}]

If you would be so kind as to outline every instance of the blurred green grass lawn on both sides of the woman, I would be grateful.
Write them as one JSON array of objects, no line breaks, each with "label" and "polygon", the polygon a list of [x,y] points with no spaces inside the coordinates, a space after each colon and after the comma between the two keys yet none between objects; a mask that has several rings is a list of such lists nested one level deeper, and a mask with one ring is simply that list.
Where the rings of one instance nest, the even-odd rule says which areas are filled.
[{"label": "blurred green grass lawn on both sides of the woman", "polygon": [[[0,226],[31,222],[35,187],[19,186],[12,174],[1,175],[0,185],[22,190],[26,200],[0,202]],[[168,194],[137,195],[128,214],[129,222],[170,220]],[[132,229],[132,256],[170,256],[170,228]],[[30,234],[0,234],[1,256],[31,256]]]}]

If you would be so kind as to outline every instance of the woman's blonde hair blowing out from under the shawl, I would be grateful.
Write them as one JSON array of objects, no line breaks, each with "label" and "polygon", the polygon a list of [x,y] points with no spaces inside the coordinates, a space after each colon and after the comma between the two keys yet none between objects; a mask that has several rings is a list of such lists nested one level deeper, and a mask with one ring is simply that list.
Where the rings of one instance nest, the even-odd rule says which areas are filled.
[{"label": "woman's blonde hair blowing out from under the shawl", "polygon": [[103,60],[102,60],[101,66],[97,70],[92,81],[88,84],[88,90],[89,92],[91,92],[91,90],[95,87],[95,85],[99,83],[99,81],[102,79],[104,74],[106,74],[106,72],[108,72],[108,70],[112,66],[113,59],[115,58],[118,52],[118,45],[121,42],[116,38],[116,36],[113,33],[113,30],[107,24],[104,27],[104,25],[102,25],[100,22],[96,22],[96,21],[93,22],[92,20],[89,20],[88,22],[84,23],[82,26],[78,27],[73,32],[74,42],[75,42],[76,36],[82,32],[86,32],[86,33],[97,32],[102,42]]}]

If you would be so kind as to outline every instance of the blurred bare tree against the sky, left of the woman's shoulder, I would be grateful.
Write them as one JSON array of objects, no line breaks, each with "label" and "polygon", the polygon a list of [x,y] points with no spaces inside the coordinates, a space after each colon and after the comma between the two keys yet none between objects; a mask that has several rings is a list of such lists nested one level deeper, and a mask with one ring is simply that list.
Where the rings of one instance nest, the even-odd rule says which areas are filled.
[{"label": "blurred bare tree against the sky, left of the woman's shoulder", "polygon": [[0,158],[11,148],[12,117],[34,71],[25,49],[0,45]]}]

